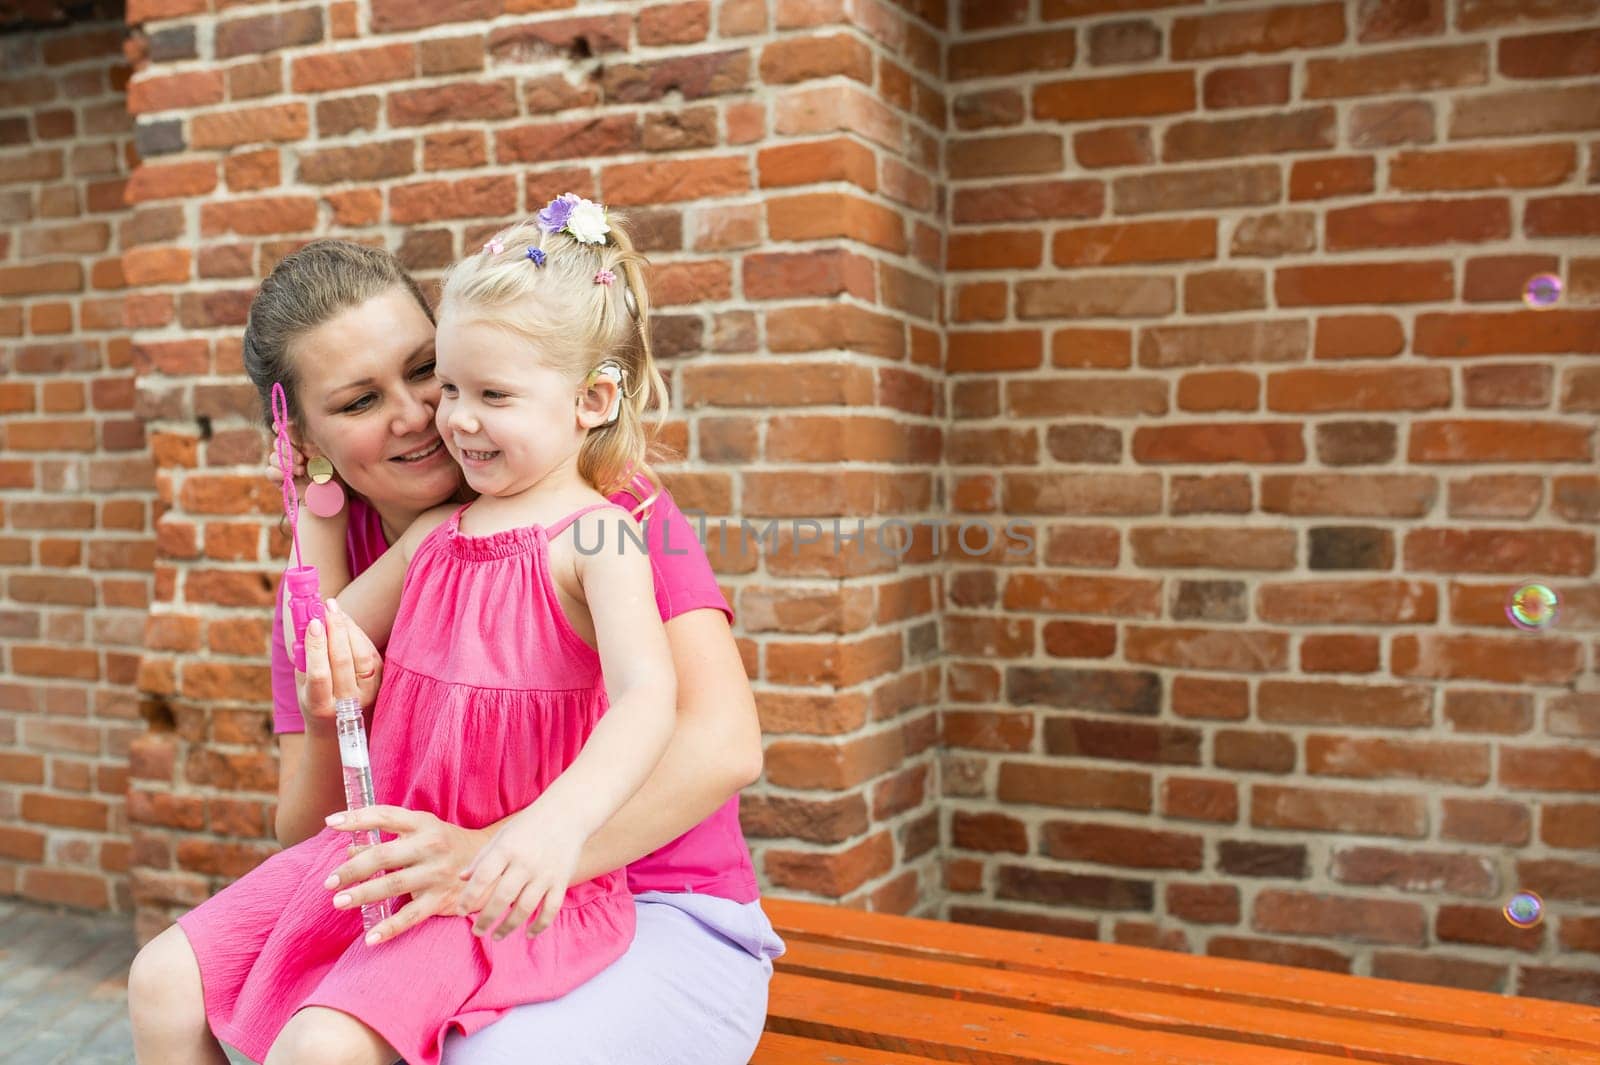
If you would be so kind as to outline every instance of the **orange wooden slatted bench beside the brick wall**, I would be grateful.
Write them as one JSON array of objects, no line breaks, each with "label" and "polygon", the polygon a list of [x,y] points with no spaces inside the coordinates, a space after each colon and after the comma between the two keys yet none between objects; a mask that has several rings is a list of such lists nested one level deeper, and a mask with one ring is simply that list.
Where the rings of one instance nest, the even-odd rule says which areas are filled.
[{"label": "orange wooden slatted bench beside the brick wall", "polygon": [[1600,1065],[1600,1009],[765,900],[750,1065]]}]

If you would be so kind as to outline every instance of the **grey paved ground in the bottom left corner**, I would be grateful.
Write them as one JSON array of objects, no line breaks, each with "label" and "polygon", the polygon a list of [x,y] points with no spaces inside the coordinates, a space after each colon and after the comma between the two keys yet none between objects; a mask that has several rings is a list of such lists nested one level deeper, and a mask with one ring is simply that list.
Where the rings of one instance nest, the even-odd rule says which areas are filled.
[{"label": "grey paved ground in the bottom left corner", "polygon": [[0,899],[0,1065],[133,1065],[134,950],[126,918]]}]

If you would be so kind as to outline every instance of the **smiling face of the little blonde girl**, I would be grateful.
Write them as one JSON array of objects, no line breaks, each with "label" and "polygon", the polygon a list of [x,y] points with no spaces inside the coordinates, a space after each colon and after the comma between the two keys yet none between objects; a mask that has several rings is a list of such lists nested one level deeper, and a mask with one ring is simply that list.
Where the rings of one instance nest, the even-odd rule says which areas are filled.
[{"label": "smiling face of the little blonde girl", "polygon": [[608,401],[590,395],[579,403],[579,382],[552,369],[526,339],[448,312],[438,321],[437,373],[438,432],[483,496],[517,496],[563,467],[576,472],[586,425]]}]

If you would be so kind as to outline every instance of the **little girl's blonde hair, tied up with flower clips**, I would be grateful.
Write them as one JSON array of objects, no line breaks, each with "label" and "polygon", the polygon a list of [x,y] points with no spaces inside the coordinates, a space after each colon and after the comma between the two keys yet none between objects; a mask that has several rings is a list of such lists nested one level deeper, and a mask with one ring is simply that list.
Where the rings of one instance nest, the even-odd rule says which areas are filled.
[{"label": "little girl's blonde hair, tied up with flower clips", "polygon": [[[483,251],[450,269],[438,313],[461,313],[526,337],[555,369],[578,381],[587,381],[606,360],[621,366],[618,417],[589,430],[578,451],[578,473],[602,496],[630,489],[643,499],[634,510],[638,515],[662,491],[650,461],[670,456],[658,443],[669,397],[650,350],[650,262],[634,248],[621,213],[606,211],[606,222],[611,232],[598,245],[565,230],[547,233],[533,219],[502,229]],[[530,259],[530,249],[542,253],[542,265]],[[616,280],[598,283],[600,270]],[[645,421],[650,411],[656,411],[653,425]],[[648,483],[648,496],[637,491],[640,480]]]}]

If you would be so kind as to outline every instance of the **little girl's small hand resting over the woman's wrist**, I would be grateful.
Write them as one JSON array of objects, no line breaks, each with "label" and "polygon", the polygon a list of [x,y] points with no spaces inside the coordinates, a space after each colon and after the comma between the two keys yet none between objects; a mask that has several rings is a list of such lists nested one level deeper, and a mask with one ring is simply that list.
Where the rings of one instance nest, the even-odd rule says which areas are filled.
[{"label": "little girl's small hand resting over the woman's wrist", "polygon": [[472,865],[461,870],[467,881],[462,911],[478,915],[472,934],[493,932],[501,940],[534,915],[528,935],[547,929],[566,899],[586,838],[573,817],[538,801],[504,822]]}]

